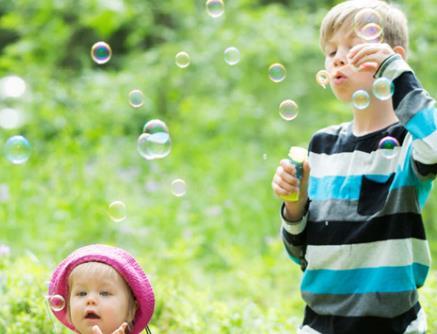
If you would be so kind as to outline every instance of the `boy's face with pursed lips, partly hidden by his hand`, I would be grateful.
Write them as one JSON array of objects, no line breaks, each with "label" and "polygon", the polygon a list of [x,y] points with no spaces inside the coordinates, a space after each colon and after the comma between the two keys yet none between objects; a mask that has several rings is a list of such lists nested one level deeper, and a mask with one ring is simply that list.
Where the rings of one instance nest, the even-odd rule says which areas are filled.
[{"label": "boy's face with pursed lips, partly hidden by his hand", "polygon": [[330,74],[330,85],[335,96],[350,102],[359,89],[369,92],[374,81],[373,73],[358,71],[349,64],[347,54],[357,44],[365,43],[351,30],[342,28],[332,35],[325,47],[325,68]]}]

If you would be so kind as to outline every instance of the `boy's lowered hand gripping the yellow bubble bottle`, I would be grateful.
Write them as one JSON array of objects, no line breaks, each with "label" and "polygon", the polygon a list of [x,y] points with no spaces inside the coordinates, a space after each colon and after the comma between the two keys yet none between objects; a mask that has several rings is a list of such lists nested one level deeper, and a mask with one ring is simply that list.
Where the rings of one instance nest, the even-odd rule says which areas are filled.
[{"label": "boy's lowered hand gripping the yellow bubble bottle", "polygon": [[300,220],[304,214],[308,200],[308,177],[310,166],[307,160],[303,162],[303,175],[299,181],[296,177],[296,168],[288,159],[280,161],[276,173],[273,176],[272,188],[276,196],[287,196],[293,192],[299,192],[299,200],[296,202],[284,201],[285,218],[290,221]]}]

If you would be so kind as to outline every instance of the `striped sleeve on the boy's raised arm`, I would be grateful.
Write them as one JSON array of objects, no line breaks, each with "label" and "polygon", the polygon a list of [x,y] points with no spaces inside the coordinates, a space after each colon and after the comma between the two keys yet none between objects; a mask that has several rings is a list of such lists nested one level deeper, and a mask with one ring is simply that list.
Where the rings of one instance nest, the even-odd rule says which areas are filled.
[{"label": "striped sleeve on the boy's raised arm", "polygon": [[399,121],[413,138],[412,159],[419,179],[437,174],[437,117],[435,100],[423,89],[414,72],[398,54],[387,58],[375,78],[393,81],[393,107]]}]

